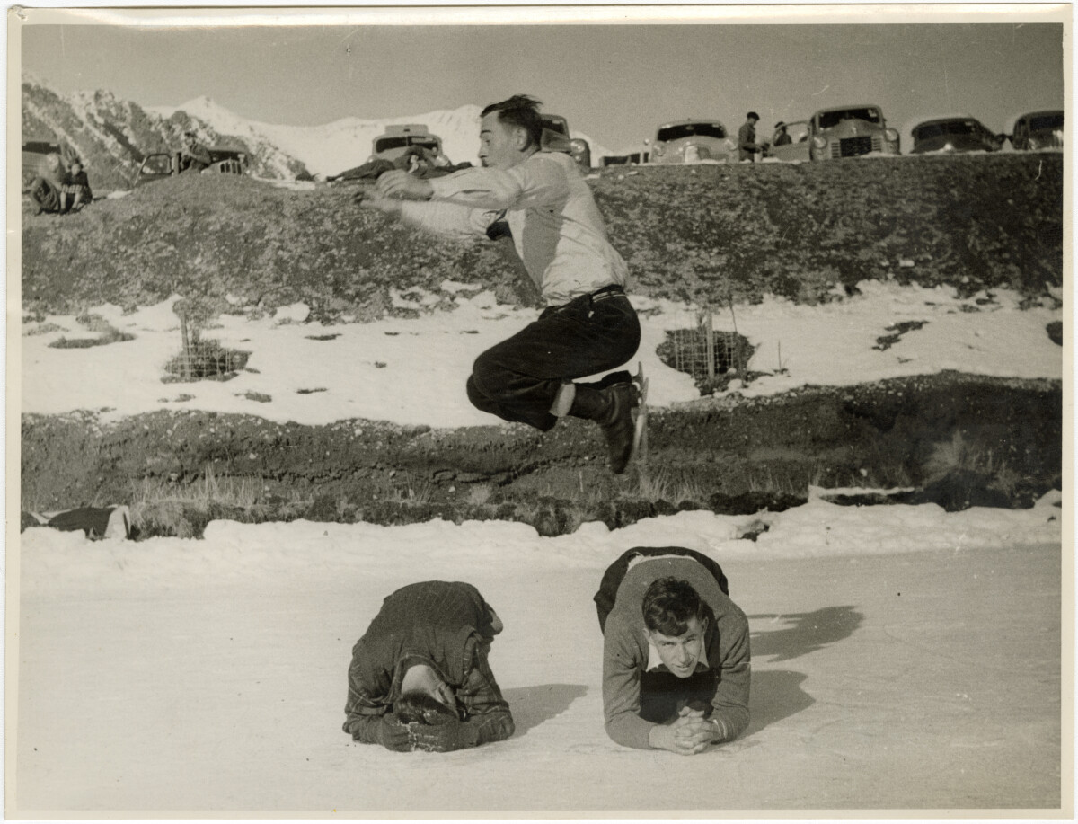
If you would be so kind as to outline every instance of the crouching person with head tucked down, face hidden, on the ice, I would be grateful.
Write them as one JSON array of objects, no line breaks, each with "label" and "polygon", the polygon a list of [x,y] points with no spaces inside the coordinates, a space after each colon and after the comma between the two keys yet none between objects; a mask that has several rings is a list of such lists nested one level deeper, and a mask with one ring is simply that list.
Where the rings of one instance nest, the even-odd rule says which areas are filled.
[{"label": "crouching person with head tucked down, face hidden, on the ice", "polygon": [[501,629],[470,583],[397,590],[353,647],[344,731],[398,752],[446,753],[509,738],[513,717],[487,663]]}]

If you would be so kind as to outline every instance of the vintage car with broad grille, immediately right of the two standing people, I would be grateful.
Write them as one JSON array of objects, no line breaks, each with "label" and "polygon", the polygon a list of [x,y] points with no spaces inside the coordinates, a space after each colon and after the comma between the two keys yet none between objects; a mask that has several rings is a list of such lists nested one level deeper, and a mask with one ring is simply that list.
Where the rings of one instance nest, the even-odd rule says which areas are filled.
[{"label": "vintage car with broad grille, immediately right of the two standing people", "polygon": [[[898,132],[887,126],[879,106],[820,109],[806,121],[786,124],[791,140],[776,145],[768,155],[782,161],[828,161],[874,152],[898,154]],[[775,136],[777,138],[777,135]]]}]

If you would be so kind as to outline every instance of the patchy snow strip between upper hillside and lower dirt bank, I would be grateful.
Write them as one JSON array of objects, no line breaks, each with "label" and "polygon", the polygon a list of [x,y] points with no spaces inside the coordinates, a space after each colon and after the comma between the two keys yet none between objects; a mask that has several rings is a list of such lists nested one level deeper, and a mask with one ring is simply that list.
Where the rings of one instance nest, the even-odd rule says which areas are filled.
[{"label": "patchy snow strip between upper hillside and lower dirt bank", "polygon": [[[717,313],[717,330],[736,329],[757,347],[748,369],[768,373],[730,392],[765,395],[948,369],[1062,376],[1062,349],[1045,331],[1062,318],[1059,308],[1019,310],[1019,297],[1007,290],[993,290],[991,299],[984,293],[958,299],[942,287],[863,281],[859,289],[857,297],[818,306],[772,298]],[[226,382],[161,382],[165,363],[181,348],[171,300],[133,315],[119,306],[93,310],[134,335],[106,346],[50,346],[59,338],[98,337],[72,316],[28,322],[22,337],[23,411],[108,410],[102,414],[108,420],[155,409],[202,409],[302,424],[353,417],[436,427],[496,423],[468,402],[465,377],[476,355],[522,329],[536,313],[498,304],[476,286],[445,281],[442,291],[456,296],[456,308],[414,320],[322,327],[304,322],[308,310],[302,304],[277,307],[259,320],[224,316],[203,337],[251,353],[247,367],[257,370]],[[438,298],[411,291],[396,300],[423,310]],[[655,355],[667,330],[695,326],[695,312],[667,301],[632,301],[641,315],[639,359],[650,380],[649,401],[668,406],[697,398],[689,375]],[[903,321],[924,326],[888,347],[876,343]]]}]

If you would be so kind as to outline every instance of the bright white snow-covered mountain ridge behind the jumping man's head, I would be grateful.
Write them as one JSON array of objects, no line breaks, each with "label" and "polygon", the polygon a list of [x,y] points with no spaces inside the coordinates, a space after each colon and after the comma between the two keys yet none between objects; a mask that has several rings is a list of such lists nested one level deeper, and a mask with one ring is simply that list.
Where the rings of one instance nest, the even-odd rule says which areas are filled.
[{"label": "bright white snow-covered mountain ridge behind the jumping man's head", "polygon": [[[336,175],[347,168],[358,166],[371,155],[371,145],[385,133],[386,127],[403,123],[421,123],[432,134],[442,138],[442,150],[454,163],[469,161],[478,163],[479,120],[482,107],[461,106],[457,109],[440,109],[424,114],[409,114],[398,118],[360,120],[343,118],[319,126],[286,126],[246,120],[215,104],[207,97],[189,100],[176,109],[153,107],[150,109],[161,116],[174,116],[185,112],[210,124],[222,134],[238,135],[248,145],[268,143],[300,160],[313,174]],[[590,137],[570,129],[573,137],[588,140],[592,147],[592,157],[609,154]]]}]

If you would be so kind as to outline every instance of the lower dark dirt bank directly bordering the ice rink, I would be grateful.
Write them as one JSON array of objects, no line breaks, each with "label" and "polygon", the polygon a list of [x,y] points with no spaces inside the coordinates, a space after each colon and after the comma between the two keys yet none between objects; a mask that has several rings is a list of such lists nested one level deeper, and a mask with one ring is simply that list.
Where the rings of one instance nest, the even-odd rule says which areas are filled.
[{"label": "lower dark dirt bank directly bordering the ice rink", "polygon": [[647,465],[621,478],[598,430],[576,420],[536,435],[199,412],[108,425],[24,416],[23,499],[38,510],[133,504],[144,535],[197,535],[213,518],[498,519],[556,535],[679,509],[780,510],[810,484],[903,487],[890,499],[948,509],[1028,506],[1060,487],[1061,411],[1058,383],[957,374],[701,400],[655,410]]}]

